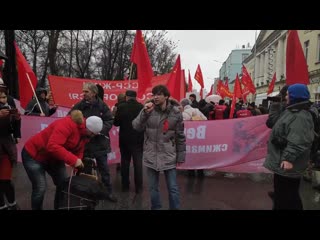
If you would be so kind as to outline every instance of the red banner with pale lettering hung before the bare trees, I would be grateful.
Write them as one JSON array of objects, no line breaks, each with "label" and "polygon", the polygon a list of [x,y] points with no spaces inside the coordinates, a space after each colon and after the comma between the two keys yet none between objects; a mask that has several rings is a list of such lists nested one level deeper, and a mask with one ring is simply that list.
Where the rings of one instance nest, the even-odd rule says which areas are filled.
[{"label": "red banner with pale lettering hung before the bare trees", "polygon": [[[166,85],[170,77],[170,73],[152,78],[152,87],[148,88],[146,94],[138,101],[144,102],[151,97],[151,90],[158,84]],[[71,108],[74,104],[82,99],[82,86],[85,82],[93,82],[100,84],[104,89],[104,102],[112,108],[117,102],[117,96],[124,93],[127,89],[138,90],[137,80],[117,80],[117,81],[101,81],[80,78],[67,78],[59,76],[48,76],[50,89],[53,100],[56,105]]]}]

